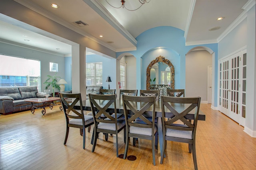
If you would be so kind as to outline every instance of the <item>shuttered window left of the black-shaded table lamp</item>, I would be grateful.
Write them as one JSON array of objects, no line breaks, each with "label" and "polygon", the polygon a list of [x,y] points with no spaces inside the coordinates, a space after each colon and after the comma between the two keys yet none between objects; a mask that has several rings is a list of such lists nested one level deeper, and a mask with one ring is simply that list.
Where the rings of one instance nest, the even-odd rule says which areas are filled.
[{"label": "shuttered window left of the black-shaded table lamp", "polygon": [[86,63],[86,86],[102,86],[102,62]]}]

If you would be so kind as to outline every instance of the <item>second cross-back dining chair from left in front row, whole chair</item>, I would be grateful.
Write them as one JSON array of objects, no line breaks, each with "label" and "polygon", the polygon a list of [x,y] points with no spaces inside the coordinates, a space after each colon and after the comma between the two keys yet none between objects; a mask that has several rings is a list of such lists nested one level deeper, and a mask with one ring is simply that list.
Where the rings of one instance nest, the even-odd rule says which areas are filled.
[{"label": "second cross-back dining chair from left in front row, whole chair", "polygon": [[[89,94],[89,100],[94,120],[92,152],[94,152],[96,147],[98,133],[110,133],[116,135],[116,156],[118,157],[118,133],[125,128],[125,121],[122,119],[117,119],[116,116],[112,117],[110,113],[106,111],[108,107],[114,104],[113,114],[116,115],[116,94]],[[107,118],[103,119],[101,117],[102,114],[104,114]],[[126,134],[124,133],[124,140],[125,139]]]}]

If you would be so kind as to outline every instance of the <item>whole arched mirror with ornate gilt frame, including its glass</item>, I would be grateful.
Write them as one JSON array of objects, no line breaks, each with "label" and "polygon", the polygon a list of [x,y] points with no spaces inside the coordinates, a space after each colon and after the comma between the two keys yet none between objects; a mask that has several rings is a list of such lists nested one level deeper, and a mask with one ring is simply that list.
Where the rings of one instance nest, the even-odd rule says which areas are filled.
[{"label": "whole arched mirror with ornate gilt frame, including its glass", "polygon": [[148,65],[146,76],[147,90],[150,90],[150,85],[157,86],[157,84],[167,85],[170,89],[174,89],[174,66],[162,56],[156,57],[155,60],[151,61]]}]

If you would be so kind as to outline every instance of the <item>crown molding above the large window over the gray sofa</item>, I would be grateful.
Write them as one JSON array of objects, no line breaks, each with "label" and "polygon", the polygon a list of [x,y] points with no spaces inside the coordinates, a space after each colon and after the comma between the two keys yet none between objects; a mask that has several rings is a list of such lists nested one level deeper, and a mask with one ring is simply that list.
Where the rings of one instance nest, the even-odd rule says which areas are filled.
[{"label": "crown molding above the large window over the gray sofa", "polygon": [[5,44],[9,44],[9,45],[14,45],[14,46],[17,46],[17,47],[30,49],[30,50],[40,51],[40,52],[43,52],[43,53],[58,55],[60,57],[70,57],[71,56],[71,55],[68,56],[68,55],[63,55],[63,54],[60,54],[60,53],[55,53],[53,51],[48,51],[48,50],[45,50],[45,49],[40,49],[40,48],[37,48],[37,47],[32,47],[32,46],[21,44],[21,43],[16,43],[16,42],[9,41],[9,40],[6,40],[6,39],[0,39],[0,42],[5,43]]}]

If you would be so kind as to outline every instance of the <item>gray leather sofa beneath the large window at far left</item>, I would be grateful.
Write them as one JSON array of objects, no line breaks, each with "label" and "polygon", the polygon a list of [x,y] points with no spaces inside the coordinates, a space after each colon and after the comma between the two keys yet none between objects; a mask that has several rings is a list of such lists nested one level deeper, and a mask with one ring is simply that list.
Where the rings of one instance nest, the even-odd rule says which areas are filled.
[{"label": "gray leather sofa beneath the large window at far left", "polygon": [[[31,98],[44,98],[44,93],[38,92],[36,86],[0,87],[0,114],[7,115],[31,109],[32,104],[25,102]],[[42,103],[33,104],[35,107],[42,105]]]}]

